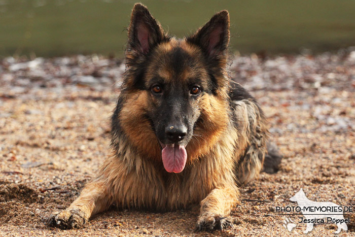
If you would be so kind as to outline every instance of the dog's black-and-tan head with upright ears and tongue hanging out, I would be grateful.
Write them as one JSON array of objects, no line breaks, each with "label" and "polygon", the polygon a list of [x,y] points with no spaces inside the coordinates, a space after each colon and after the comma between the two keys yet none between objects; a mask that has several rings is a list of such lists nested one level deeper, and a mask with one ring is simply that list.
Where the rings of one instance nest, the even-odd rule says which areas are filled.
[{"label": "dog's black-and-tan head with upright ears and tongue hanging out", "polygon": [[168,172],[183,171],[227,124],[228,42],[227,11],[179,40],[167,36],[145,6],[134,5],[121,124],[141,153],[160,154]]}]

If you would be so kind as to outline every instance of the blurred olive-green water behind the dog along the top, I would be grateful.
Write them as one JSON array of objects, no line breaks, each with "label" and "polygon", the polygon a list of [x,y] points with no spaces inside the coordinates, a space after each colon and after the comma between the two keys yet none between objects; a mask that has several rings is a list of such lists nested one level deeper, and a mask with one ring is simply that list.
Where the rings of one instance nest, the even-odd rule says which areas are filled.
[{"label": "blurred olive-green water behind the dog along the top", "polygon": [[[126,43],[136,1],[0,0],[0,56],[114,54]],[[141,1],[177,37],[214,13],[231,16],[231,50],[243,54],[335,50],[355,45],[355,1]]]}]

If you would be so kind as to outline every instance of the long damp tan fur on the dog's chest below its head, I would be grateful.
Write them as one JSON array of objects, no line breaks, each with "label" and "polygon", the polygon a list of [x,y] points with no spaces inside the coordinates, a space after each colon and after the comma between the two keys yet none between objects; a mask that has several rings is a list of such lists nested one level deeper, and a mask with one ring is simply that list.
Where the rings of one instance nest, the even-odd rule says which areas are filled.
[{"label": "long damp tan fur on the dog's chest below its head", "polygon": [[[180,174],[167,173],[161,164],[137,155],[125,144],[130,159],[111,158],[117,168],[108,174],[108,190],[122,208],[129,204],[132,208],[169,211],[198,204],[212,189],[235,182],[237,137],[235,128],[228,129],[206,156],[188,164]],[[125,177],[112,177],[122,174],[121,169]]]}]

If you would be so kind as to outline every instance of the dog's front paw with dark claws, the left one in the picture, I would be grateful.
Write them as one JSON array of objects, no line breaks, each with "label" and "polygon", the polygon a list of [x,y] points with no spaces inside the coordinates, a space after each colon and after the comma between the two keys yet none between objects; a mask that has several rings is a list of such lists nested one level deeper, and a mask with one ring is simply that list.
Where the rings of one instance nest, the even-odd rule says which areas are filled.
[{"label": "dog's front paw with dark claws, the left one in the picture", "polygon": [[47,225],[60,229],[73,229],[83,227],[86,221],[81,210],[65,210],[56,216],[50,216]]}]

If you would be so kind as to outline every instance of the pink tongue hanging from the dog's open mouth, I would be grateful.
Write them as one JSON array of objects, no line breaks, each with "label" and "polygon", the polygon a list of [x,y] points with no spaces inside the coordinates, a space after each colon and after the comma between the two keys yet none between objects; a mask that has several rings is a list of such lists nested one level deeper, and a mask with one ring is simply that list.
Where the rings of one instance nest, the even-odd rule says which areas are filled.
[{"label": "pink tongue hanging from the dog's open mouth", "polygon": [[187,153],[185,147],[180,145],[166,145],[161,151],[164,168],[169,173],[180,173],[184,170]]}]

